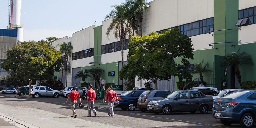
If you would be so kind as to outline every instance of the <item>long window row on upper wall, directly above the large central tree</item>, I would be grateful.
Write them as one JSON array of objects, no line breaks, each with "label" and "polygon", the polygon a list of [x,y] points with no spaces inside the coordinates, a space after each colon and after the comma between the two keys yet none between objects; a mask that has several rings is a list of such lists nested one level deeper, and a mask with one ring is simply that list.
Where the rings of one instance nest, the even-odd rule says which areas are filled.
[{"label": "long window row on upper wall, directly above the large central tree", "polygon": [[[183,24],[181,26],[176,26],[170,29],[178,28],[183,35],[187,35],[188,37],[196,36],[200,34],[208,33],[209,31],[213,31],[214,18],[208,18],[204,20],[199,20],[193,23]],[[163,33],[167,29],[156,31],[158,34]]]}]

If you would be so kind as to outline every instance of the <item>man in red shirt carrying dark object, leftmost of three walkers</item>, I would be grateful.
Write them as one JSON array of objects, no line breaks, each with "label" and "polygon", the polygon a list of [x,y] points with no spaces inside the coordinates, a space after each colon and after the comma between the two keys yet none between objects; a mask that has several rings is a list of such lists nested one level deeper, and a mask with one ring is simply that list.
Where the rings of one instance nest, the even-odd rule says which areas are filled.
[{"label": "man in red shirt carrying dark object, leftmost of three walkers", "polygon": [[[71,98],[71,102],[70,102],[70,105],[71,105],[71,109],[73,111],[73,114],[71,117],[73,117],[74,115],[74,118],[77,118],[77,113],[76,113],[76,109],[77,109],[77,98],[79,98],[79,101],[80,101],[80,104],[81,103],[81,98],[80,98],[80,95],[79,93],[76,91],[77,88],[76,87],[73,87],[73,91],[70,92],[69,96],[68,96],[68,99]],[[68,103],[68,99],[67,99],[67,103]]]}]

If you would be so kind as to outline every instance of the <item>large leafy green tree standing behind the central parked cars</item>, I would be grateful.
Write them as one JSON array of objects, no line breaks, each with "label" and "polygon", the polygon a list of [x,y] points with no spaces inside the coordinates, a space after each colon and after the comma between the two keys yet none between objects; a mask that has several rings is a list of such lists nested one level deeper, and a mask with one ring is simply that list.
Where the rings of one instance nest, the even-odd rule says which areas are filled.
[{"label": "large leafy green tree standing behind the central parked cars", "polygon": [[179,81],[191,80],[191,74],[184,66],[174,62],[181,57],[181,63],[187,66],[193,59],[191,39],[183,35],[179,29],[168,29],[163,34],[152,32],[142,37],[132,37],[128,44],[128,64],[121,68],[119,78],[135,78],[151,80],[157,89],[157,80],[169,80],[177,76]]}]

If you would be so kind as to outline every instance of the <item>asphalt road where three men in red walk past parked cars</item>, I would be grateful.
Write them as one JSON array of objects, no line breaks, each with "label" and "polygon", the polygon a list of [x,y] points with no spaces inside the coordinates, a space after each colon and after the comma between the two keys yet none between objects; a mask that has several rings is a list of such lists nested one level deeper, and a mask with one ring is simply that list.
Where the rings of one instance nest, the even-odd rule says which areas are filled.
[{"label": "asphalt road where three men in red walk past parked cars", "polygon": [[[34,98],[14,98],[13,94],[0,94],[0,104],[4,105],[18,105],[23,107],[31,107],[39,110],[49,111],[56,114],[62,114],[65,116],[71,116],[72,111],[70,109],[70,103],[66,103],[67,98],[48,98],[40,97]],[[82,100],[82,103],[85,103]],[[96,100],[96,103],[102,102],[102,100]],[[3,109],[1,109],[2,111]],[[171,113],[171,115],[154,114],[149,112],[141,112],[136,109],[135,111],[121,110],[120,108],[114,108],[114,117],[108,116],[109,110],[96,109],[97,116],[91,118],[86,117],[88,115],[87,108],[78,108],[77,115],[79,119],[85,121],[93,121],[102,124],[111,124],[117,127],[186,127],[186,128],[198,128],[198,127],[228,127],[236,128],[241,127],[238,122],[234,122],[231,126],[224,126],[218,119],[212,117],[211,111],[208,114],[196,113]],[[18,113],[18,111],[17,111]],[[24,115],[26,117],[27,115]],[[49,117],[51,118],[51,117]],[[84,125],[89,125],[82,123]]]}]

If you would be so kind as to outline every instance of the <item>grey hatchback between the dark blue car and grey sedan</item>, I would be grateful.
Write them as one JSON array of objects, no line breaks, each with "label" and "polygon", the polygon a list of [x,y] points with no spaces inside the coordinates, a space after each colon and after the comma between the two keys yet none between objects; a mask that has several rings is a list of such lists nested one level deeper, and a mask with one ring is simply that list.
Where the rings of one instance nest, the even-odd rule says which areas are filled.
[{"label": "grey hatchback between the dark blue car and grey sedan", "polygon": [[172,91],[168,91],[168,90],[144,91],[138,98],[137,108],[139,108],[142,112],[145,112],[147,110],[147,105],[149,104],[150,101],[155,99],[163,99],[163,97],[166,97],[171,92]]}]

